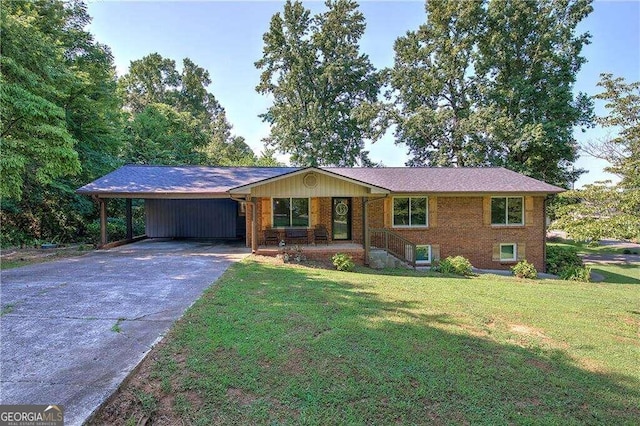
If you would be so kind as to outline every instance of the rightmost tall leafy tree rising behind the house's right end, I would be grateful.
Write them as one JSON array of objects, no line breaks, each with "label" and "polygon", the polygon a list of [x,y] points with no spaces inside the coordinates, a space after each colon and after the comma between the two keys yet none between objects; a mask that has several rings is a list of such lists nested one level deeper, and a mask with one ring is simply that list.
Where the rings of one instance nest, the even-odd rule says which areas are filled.
[{"label": "rightmost tall leafy tree rising behind the house's right end", "polygon": [[592,105],[573,95],[589,34],[576,34],[592,11],[591,0],[491,0],[479,43],[477,72],[491,145],[501,147],[496,165],[568,186],[583,170],[575,126],[589,125]]}]

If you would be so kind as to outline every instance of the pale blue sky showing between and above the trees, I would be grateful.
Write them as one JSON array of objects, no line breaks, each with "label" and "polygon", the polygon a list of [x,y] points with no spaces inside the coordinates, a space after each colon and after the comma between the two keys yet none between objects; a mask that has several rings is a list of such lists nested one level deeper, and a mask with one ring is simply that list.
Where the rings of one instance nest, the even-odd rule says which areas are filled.
[{"label": "pale blue sky showing between and above the trees", "polygon": [[[262,56],[262,35],[269,28],[271,16],[282,10],[283,2],[274,1],[89,1],[93,17],[89,30],[97,41],[111,47],[119,75],[132,60],[149,53],[176,60],[185,57],[211,74],[210,91],[226,109],[234,132],[243,136],[256,151],[269,128],[258,114],[270,105],[255,86],[259,71],[254,62]],[[324,9],[323,2],[308,1],[312,12]],[[360,10],[367,22],[360,46],[377,68],[393,64],[393,43],[426,19],[423,1],[361,1]],[[597,1],[593,13],[581,23],[592,43],[583,50],[588,62],[583,65],[576,91],[598,93],[601,72],[611,72],[627,79],[640,80],[640,2]],[[603,113],[602,104],[596,112]],[[602,129],[576,132],[579,141],[603,137]],[[369,144],[374,161],[386,166],[404,164],[406,148],[395,145],[391,134]],[[577,186],[611,178],[602,172],[606,163],[583,154],[577,167],[589,173]]]}]

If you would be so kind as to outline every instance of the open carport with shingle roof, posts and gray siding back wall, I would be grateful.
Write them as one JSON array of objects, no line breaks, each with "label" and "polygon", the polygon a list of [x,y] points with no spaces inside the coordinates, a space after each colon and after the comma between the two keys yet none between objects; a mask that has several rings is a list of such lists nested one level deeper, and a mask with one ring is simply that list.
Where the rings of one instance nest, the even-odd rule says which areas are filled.
[{"label": "open carport with shingle roof, posts and gray siding back wall", "polygon": [[[250,198],[233,198],[231,188],[290,171],[288,168],[127,165],[77,192],[100,207],[100,246],[108,243],[107,202],[125,199],[126,240],[132,240],[132,200],[144,200],[145,234],[151,238],[246,238]],[[252,245],[247,241],[247,245]]]}]

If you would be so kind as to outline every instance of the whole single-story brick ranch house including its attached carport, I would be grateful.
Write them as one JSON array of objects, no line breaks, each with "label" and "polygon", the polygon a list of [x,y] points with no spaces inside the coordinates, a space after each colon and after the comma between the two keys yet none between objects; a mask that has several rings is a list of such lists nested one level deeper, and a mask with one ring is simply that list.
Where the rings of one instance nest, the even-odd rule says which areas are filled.
[{"label": "whole single-story brick ranch house including its attached carport", "polygon": [[[563,189],[504,168],[169,167],[128,165],[78,189],[145,200],[151,238],[243,238],[253,252],[307,257],[386,251],[410,265],[462,255],[483,269],[545,259],[545,203]],[[284,247],[282,247],[284,245]]]}]

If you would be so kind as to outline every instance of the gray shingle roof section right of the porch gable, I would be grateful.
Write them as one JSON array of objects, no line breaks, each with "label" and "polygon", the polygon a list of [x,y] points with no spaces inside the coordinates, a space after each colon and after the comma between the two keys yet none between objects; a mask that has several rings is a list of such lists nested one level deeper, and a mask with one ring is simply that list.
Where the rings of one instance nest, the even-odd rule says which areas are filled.
[{"label": "gray shingle roof section right of the porch gable", "polygon": [[327,168],[391,192],[558,193],[564,189],[502,167]]}]

